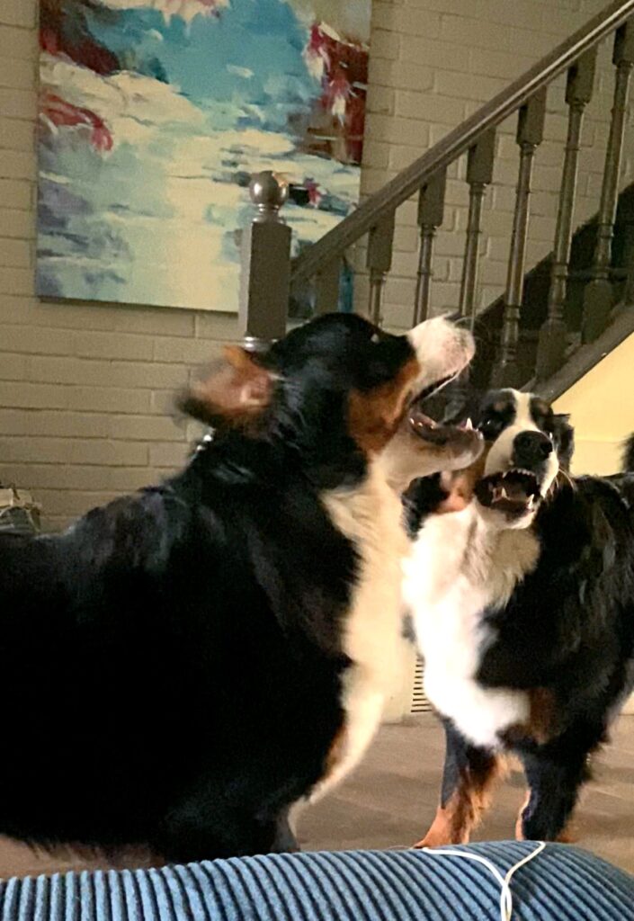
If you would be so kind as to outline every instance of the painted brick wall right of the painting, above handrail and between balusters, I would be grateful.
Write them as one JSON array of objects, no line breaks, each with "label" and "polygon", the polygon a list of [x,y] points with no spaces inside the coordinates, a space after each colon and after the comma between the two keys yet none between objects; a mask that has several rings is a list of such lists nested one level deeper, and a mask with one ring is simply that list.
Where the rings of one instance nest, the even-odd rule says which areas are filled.
[{"label": "painted brick wall right of the painting, above handrail and between balusters", "polygon": [[[362,192],[380,188],[512,78],[520,76],[594,13],[605,0],[374,0],[366,166]],[[612,41],[600,52],[593,102],[582,137],[577,223],[598,206],[607,125],[614,87]],[[557,192],[566,138],[562,76],[548,94],[546,139],[534,170],[534,218],[529,264],[552,249]],[[516,118],[499,129],[497,162],[483,219],[480,304],[498,297],[506,278],[518,152]],[[634,176],[631,120],[625,176]],[[462,272],[468,194],[463,162],[450,170],[445,226],[436,246],[432,308],[455,309]],[[363,246],[356,263],[362,267]],[[416,284],[416,207],[397,213],[393,272],[385,290],[385,321],[406,327]],[[358,309],[367,302],[367,279],[357,286]]]}]

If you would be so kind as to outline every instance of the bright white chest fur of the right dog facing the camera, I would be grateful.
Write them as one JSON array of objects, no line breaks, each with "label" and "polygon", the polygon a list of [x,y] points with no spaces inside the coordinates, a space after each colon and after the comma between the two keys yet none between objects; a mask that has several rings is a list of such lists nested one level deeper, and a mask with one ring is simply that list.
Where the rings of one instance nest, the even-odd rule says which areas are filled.
[{"label": "bright white chest fur of the right dog facing the camera", "polygon": [[405,560],[404,598],[425,659],[425,693],[473,744],[496,748],[499,732],[529,716],[526,694],[475,681],[487,635],[483,613],[501,607],[534,568],[528,530],[490,530],[475,503],[431,516]]}]

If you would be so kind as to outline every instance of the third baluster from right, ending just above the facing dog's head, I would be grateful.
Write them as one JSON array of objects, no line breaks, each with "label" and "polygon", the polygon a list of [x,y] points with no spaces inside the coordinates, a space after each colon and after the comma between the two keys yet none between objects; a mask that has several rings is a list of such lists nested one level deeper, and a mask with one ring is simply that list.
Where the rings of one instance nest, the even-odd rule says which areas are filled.
[{"label": "third baluster from right, ending just above the facing dog's head", "polygon": [[534,153],[544,136],[545,116],[546,88],[539,90],[522,106],[517,124],[516,140],[520,146],[520,170],[515,196],[509,271],[504,294],[504,319],[500,337],[499,362],[491,375],[491,383],[494,387],[513,387],[520,382],[518,380],[517,346],[520,339],[520,311],[530,217],[531,180]]}]

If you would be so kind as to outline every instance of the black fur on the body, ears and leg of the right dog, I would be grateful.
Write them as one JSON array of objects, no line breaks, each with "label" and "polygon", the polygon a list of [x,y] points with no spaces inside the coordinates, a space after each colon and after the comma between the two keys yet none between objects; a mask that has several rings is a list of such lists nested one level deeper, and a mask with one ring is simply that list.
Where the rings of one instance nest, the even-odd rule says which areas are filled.
[{"label": "black fur on the body, ears and leg of the right dog", "polygon": [[[504,405],[499,391],[482,402],[476,421],[489,440],[513,421],[511,403]],[[531,412],[552,437],[560,469],[568,470],[573,448],[568,417],[552,414],[541,401]],[[634,467],[633,452],[631,437],[627,470]],[[410,489],[414,533],[446,497],[439,489],[439,477]],[[500,744],[521,757],[530,788],[523,837],[554,840],[589,777],[589,755],[607,739],[611,721],[634,689],[634,474],[561,477],[531,527],[540,546],[537,565],[501,610],[483,612],[487,641],[476,680],[485,688],[538,695],[540,729],[514,729]],[[466,796],[464,776],[487,755],[445,723],[442,804]]]}]

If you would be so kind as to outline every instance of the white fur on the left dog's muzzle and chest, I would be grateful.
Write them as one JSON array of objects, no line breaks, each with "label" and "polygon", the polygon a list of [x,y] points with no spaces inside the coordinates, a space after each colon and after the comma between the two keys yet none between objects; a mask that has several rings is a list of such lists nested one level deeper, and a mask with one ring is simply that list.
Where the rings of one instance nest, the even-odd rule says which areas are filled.
[{"label": "white fur on the left dog's muzzle and chest", "polygon": [[[474,354],[471,334],[442,318],[420,323],[408,338],[421,368],[413,393],[456,374]],[[352,664],[343,679],[342,752],[330,774],[312,791],[311,800],[322,797],[358,764],[379,727],[388,698],[400,685],[402,560],[407,539],[401,500],[390,474],[392,464],[387,461],[389,448],[370,462],[362,484],[323,495],[335,526],[353,542],[360,569],[343,637],[343,650]],[[408,453],[417,464],[412,475],[432,472],[425,466],[416,437],[411,442],[399,441],[398,453]],[[439,470],[446,458],[436,460],[434,469]]]}]

